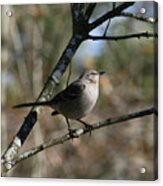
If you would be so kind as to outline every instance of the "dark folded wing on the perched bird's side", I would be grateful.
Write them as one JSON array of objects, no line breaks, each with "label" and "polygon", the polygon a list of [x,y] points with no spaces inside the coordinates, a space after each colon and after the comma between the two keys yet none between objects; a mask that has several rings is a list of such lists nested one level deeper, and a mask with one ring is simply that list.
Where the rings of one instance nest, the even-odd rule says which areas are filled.
[{"label": "dark folded wing on the perched bird's side", "polygon": [[81,96],[84,91],[85,85],[79,81],[70,84],[65,90],[60,92],[54,97],[54,101],[71,101]]}]

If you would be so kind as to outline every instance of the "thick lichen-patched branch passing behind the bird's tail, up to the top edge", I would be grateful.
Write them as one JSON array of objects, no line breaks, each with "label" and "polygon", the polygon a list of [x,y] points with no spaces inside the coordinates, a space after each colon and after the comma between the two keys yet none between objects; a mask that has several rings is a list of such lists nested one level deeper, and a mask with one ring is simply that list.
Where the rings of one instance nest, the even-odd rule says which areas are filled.
[{"label": "thick lichen-patched branch passing behind the bird's tail, up to the top edge", "polygon": [[[63,51],[57,65],[48,77],[42,91],[40,92],[36,101],[51,99],[55,87],[59,84],[62,75],[64,74],[67,66],[70,64],[73,55],[80,46],[84,39],[85,33],[83,30],[78,29],[83,20],[83,4],[73,4],[71,6],[73,17],[73,35],[69,40],[65,50]],[[78,22],[79,21],[79,22]],[[24,144],[27,136],[31,132],[33,126],[37,122],[39,110],[32,107],[29,114],[25,117],[25,120],[19,129],[18,133],[13,138],[12,142],[2,155],[2,169],[3,172],[7,172],[12,168],[11,161],[17,156],[19,149]]]}]

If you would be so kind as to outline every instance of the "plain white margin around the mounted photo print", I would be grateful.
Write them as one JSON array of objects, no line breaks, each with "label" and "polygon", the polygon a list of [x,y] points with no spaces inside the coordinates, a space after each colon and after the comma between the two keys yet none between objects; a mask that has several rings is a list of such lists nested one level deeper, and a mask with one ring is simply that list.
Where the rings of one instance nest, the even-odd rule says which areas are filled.
[{"label": "plain white margin around the mounted photo print", "polygon": [[[92,2],[95,0],[91,0]],[[102,0],[98,0],[98,2],[104,2]],[[120,1],[120,0],[119,0]],[[126,1],[126,0],[125,0]],[[0,4],[47,4],[47,3],[63,3],[63,2],[77,2],[77,0],[60,0],[60,1],[55,1],[55,0],[1,0]],[[78,1],[78,2],[90,2],[88,0],[83,0],[83,1]],[[162,0],[157,0],[157,2],[159,3],[159,20],[163,20],[163,1]],[[161,80],[163,79],[163,40],[162,40],[162,36],[161,34],[163,33],[163,21],[159,21],[159,111],[161,113],[161,111],[163,110],[162,106],[163,106],[163,100],[161,95],[163,95],[163,83],[161,84]],[[121,185],[121,186],[128,186],[128,185],[163,185],[163,162],[162,162],[162,157],[163,157],[163,145],[161,144],[161,142],[163,142],[163,135],[161,134],[163,131],[163,114],[159,113],[159,180],[155,181],[155,182],[142,182],[142,181],[104,181],[104,180],[63,180],[63,179],[36,179],[36,178],[32,178],[32,179],[27,179],[27,178],[0,178],[0,185],[5,185],[5,186],[28,186],[29,184],[39,184],[39,186],[44,186],[46,184],[46,186],[49,185],[57,185],[57,186],[63,186],[63,185],[67,185],[67,186],[81,186],[81,185],[85,185],[85,186],[108,186],[108,185]],[[162,116],[161,116],[162,115]],[[64,166],[64,165],[63,165]]]}]

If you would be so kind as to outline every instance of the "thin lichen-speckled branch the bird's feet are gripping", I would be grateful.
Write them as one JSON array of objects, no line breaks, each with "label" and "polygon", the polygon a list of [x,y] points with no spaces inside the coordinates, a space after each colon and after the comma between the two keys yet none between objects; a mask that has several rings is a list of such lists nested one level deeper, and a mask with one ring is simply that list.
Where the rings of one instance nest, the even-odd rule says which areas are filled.
[{"label": "thin lichen-speckled branch the bird's feet are gripping", "polygon": [[122,115],[122,116],[119,116],[119,117],[108,118],[104,121],[100,121],[100,122],[97,122],[95,124],[92,124],[91,125],[92,127],[89,128],[89,129],[88,128],[74,129],[72,131],[73,133],[71,135],[69,133],[67,133],[67,134],[65,134],[61,137],[50,139],[49,141],[47,141],[47,142],[45,142],[45,143],[43,143],[43,144],[41,144],[37,147],[34,147],[34,148],[30,149],[29,151],[26,151],[26,152],[20,154],[14,160],[8,162],[8,164],[10,164],[10,169],[11,169],[12,167],[14,167],[20,161],[23,161],[23,160],[25,160],[25,159],[27,159],[27,158],[29,158],[29,157],[37,154],[37,153],[49,148],[49,147],[59,145],[59,144],[63,144],[64,142],[66,142],[66,141],[68,141],[72,138],[78,138],[81,135],[84,135],[86,133],[90,133],[90,130],[91,131],[97,130],[97,129],[100,129],[102,127],[110,126],[110,125],[113,125],[113,124],[118,124],[118,123],[121,123],[121,122],[124,122],[124,121],[144,117],[144,116],[151,115],[151,114],[155,114],[157,116],[157,111],[153,107],[151,107],[149,109],[141,110],[141,111],[138,111],[138,112],[132,112],[132,113]]}]

